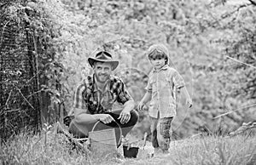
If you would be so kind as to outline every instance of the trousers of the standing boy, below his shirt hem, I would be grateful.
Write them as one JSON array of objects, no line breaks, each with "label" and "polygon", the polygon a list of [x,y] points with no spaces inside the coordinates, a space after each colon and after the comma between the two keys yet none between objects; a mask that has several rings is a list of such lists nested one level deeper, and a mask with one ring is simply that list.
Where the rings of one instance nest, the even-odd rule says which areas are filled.
[{"label": "trousers of the standing boy, below his shirt hem", "polygon": [[154,148],[160,148],[162,151],[168,151],[171,142],[171,123],[173,117],[154,118],[150,117],[152,145]]}]

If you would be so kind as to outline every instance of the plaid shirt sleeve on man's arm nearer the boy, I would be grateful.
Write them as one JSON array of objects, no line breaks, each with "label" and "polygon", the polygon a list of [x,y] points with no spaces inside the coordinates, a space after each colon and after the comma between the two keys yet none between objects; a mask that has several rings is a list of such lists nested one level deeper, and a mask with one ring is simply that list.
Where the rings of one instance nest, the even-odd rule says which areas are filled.
[{"label": "plaid shirt sleeve on man's arm nearer the boy", "polygon": [[122,103],[124,105],[126,101],[133,100],[128,90],[125,88],[125,84],[121,79],[119,80],[117,91],[118,91],[117,101],[119,103]]}]

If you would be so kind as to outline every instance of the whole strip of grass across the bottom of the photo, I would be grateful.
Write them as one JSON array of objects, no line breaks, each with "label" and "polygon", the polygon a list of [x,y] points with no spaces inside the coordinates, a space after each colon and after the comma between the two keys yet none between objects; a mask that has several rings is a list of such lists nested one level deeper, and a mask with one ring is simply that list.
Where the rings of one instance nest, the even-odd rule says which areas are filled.
[{"label": "whole strip of grass across the bottom of the photo", "polygon": [[169,155],[152,158],[98,156],[72,148],[62,134],[20,134],[2,143],[0,164],[256,164],[256,137],[253,135],[172,141]]}]

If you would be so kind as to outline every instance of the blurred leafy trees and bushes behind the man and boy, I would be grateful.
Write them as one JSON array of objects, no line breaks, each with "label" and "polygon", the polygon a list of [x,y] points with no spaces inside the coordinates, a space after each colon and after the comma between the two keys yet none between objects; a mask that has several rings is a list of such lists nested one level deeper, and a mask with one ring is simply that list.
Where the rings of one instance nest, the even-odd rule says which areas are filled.
[{"label": "blurred leafy trees and bushes behind the man and boy", "polygon": [[[153,43],[164,43],[170,51],[171,66],[183,76],[194,101],[188,110],[178,95],[173,138],[201,132],[226,134],[256,118],[253,0],[8,3],[9,17],[34,26],[44,49],[44,55],[38,57],[39,69],[44,68],[40,88],[50,95],[44,113],[54,113],[54,105],[60,103],[65,105],[65,114],[72,110],[76,85],[90,74],[87,58],[99,49],[110,51],[120,61],[114,74],[123,78],[138,104],[152,69],[146,50]],[[46,121],[53,122],[50,117]],[[132,134],[141,138],[148,131],[144,111]]]}]

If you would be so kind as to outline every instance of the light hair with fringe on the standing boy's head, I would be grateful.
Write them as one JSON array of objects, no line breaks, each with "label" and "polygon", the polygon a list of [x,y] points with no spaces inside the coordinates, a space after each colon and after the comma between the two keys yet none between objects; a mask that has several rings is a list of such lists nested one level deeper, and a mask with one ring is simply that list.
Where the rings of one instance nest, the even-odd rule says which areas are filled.
[{"label": "light hair with fringe on the standing boy's head", "polygon": [[148,48],[148,60],[165,58],[166,59],[165,64],[167,65],[169,64],[168,56],[169,56],[168,49],[163,44],[160,44],[160,43],[154,44]]}]

